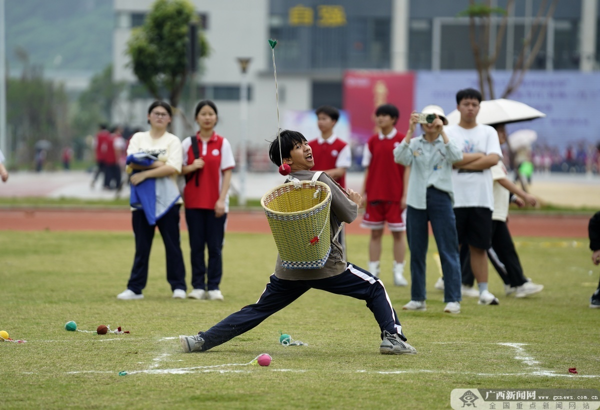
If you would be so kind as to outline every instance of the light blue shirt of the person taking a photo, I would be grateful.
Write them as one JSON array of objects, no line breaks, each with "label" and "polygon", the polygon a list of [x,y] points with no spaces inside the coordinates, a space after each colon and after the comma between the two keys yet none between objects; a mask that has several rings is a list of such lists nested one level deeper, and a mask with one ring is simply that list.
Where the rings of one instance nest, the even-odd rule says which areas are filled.
[{"label": "light blue shirt of the person taking a photo", "polygon": [[462,159],[463,152],[458,146],[452,140],[445,144],[441,135],[433,142],[428,142],[423,135],[413,137],[410,143],[405,138],[394,148],[394,160],[410,166],[406,205],[418,210],[427,209],[428,187],[447,192],[454,203],[452,164]]}]

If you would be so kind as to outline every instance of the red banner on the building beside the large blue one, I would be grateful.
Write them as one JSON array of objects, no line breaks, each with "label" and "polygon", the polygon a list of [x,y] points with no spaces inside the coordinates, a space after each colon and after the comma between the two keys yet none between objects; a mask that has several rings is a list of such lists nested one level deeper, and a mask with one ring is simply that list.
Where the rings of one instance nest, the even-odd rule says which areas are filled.
[{"label": "red banner on the building beside the large blue one", "polygon": [[394,104],[400,110],[396,128],[405,133],[414,109],[415,76],[393,71],[346,71],[344,73],[344,110],[349,113],[351,139],[364,143],[379,131],[375,110],[382,104]]}]

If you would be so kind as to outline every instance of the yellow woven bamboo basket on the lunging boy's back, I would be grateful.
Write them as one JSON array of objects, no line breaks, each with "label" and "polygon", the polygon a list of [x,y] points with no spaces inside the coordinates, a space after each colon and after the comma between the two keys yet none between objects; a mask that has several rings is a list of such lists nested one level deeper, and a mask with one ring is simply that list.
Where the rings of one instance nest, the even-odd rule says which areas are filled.
[{"label": "yellow woven bamboo basket on the lunging boy's back", "polygon": [[287,182],[260,200],[286,269],[319,269],[331,252],[331,190],[320,181]]}]

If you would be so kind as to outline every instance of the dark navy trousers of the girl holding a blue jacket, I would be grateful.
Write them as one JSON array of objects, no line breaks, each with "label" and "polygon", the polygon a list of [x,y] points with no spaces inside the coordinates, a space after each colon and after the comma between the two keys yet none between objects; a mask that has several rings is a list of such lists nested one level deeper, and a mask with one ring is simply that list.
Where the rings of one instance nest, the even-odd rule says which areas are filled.
[{"label": "dark navy trousers of the girl holding a blue jacket", "polygon": [[[184,257],[181,253],[181,237],[179,235],[179,207],[173,207],[156,222],[158,231],[163,237],[164,250],[167,259],[167,282],[171,290],[183,289],[185,291],[185,266]],[[142,289],[148,282],[148,260],[150,249],[154,239],[156,226],[150,225],[144,211],[133,211],[131,213],[133,234],[136,239],[136,256],[133,259],[131,277],[127,283],[127,289],[136,294],[141,294]]]}]

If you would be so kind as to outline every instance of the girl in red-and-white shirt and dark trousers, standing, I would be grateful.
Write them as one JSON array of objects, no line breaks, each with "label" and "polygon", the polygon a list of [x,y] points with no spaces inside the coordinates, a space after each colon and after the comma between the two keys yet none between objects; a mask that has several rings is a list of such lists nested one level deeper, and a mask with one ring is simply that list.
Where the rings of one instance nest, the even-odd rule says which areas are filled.
[{"label": "girl in red-and-white shirt and dark trousers, standing", "polygon": [[[200,131],[182,142],[185,220],[191,249],[191,284],[188,298],[223,300],[219,289],[223,276],[223,239],[229,212],[229,185],[235,167],[227,139],[214,130],[217,106],[200,101],[194,113]],[[196,151],[196,152],[194,152]],[[204,249],[208,247],[208,266]]]}]

